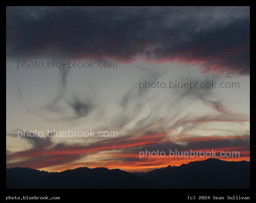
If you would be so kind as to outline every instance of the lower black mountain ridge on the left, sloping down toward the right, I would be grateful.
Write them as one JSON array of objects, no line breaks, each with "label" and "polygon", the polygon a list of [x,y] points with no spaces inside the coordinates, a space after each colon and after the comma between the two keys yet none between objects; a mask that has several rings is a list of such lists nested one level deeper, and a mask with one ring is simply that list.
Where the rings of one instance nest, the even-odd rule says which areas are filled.
[{"label": "lower black mountain ridge on the left, sloping down toward the right", "polygon": [[48,173],[31,168],[6,169],[6,188],[167,188],[165,184],[120,169],[81,167]]}]

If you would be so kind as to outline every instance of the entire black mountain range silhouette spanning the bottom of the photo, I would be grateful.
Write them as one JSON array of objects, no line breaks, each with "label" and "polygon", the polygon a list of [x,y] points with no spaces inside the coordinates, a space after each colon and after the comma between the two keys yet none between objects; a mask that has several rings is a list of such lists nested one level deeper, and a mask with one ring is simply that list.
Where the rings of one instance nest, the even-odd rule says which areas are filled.
[{"label": "entire black mountain range silhouette spanning the bottom of the photo", "polygon": [[62,172],[6,168],[6,188],[249,188],[250,163],[218,159],[167,166],[147,173],[80,167]]}]

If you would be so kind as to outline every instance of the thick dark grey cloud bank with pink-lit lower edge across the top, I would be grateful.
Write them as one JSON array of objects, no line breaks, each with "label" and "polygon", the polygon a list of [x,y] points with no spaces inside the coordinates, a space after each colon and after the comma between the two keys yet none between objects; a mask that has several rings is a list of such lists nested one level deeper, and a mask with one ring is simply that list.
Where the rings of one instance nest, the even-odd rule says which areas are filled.
[{"label": "thick dark grey cloud bank with pink-lit lower edge across the top", "polygon": [[7,56],[143,58],[249,75],[249,12],[246,6],[7,7]]}]

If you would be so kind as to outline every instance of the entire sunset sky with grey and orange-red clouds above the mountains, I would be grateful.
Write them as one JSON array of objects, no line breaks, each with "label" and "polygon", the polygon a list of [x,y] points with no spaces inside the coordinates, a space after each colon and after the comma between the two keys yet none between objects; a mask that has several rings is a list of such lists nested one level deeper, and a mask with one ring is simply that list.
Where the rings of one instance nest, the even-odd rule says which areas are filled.
[{"label": "entire sunset sky with grey and orange-red clouds above the mountains", "polygon": [[[249,161],[249,38],[249,6],[7,6],[6,167],[141,172],[207,159],[170,150]],[[57,136],[75,131],[86,133]]]}]

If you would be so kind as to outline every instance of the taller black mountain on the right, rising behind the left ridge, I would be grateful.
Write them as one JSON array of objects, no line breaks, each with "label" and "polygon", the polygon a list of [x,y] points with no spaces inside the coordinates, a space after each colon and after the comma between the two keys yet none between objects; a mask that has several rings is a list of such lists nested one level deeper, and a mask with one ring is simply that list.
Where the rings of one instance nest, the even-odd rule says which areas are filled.
[{"label": "taller black mountain on the right, rising behind the left ridge", "polygon": [[250,162],[209,158],[180,166],[167,166],[133,174],[161,182],[169,188],[250,188]]}]

